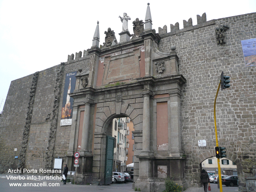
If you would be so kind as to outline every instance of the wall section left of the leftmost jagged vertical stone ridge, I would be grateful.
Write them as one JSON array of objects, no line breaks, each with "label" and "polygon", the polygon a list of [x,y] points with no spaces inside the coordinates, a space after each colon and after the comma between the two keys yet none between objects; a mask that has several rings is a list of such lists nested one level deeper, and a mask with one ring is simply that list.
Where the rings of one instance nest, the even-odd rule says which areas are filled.
[{"label": "wall section left of the leftmost jagged vertical stone ridge", "polygon": [[[8,168],[17,169],[22,150],[23,132],[26,124],[26,114],[33,74],[11,82],[0,118],[0,172]],[[15,129],[14,129],[15,128]],[[14,150],[17,148],[17,151]],[[8,166],[7,166],[8,165]]]}]

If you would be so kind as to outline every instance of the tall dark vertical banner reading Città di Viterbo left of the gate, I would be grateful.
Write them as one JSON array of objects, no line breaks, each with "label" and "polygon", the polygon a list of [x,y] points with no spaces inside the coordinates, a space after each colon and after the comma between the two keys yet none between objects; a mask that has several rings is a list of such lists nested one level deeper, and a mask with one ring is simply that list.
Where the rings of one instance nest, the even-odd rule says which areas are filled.
[{"label": "tall dark vertical banner reading Citt\u00e0 di Viterbo left of the gate", "polygon": [[76,75],[77,72],[67,73],[64,85],[64,94],[62,100],[62,110],[60,126],[71,125],[72,123],[72,113],[73,113],[73,102],[74,99],[69,97],[68,93],[73,93],[76,86]]}]

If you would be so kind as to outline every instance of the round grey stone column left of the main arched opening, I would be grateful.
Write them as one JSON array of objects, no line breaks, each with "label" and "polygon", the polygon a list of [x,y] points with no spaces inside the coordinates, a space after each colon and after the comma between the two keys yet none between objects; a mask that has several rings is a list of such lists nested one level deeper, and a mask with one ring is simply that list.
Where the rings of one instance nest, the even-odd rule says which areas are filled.
[{"label": "round grey stone column left of the main arched opening", "polygon": [[83,131],[82,131],[82,141],[81,141],[81,150],[80,153],[82,155],[84,154],[90,154],[91,150],[88,150],[88,136],[89,134],[89,124],[90,124],[90,105],[92,101],[90,99],[87,99],[86,102],[84,102],[84,117],[83,117]]}]

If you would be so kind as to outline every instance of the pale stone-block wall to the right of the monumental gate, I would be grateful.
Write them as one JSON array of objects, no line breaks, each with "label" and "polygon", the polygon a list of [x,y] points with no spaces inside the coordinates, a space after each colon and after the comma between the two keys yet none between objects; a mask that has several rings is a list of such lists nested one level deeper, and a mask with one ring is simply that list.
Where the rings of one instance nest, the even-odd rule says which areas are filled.
[{"label": "pale stone-block wall to the right of the monumental gate", "polygon": [[[255,18],[256,13],[251,13],[217,19],[196,29],[176,30],[175,34],[164,34],[159,44],[159,50],[164,52],[176,46],[179,72],[187,80],[182,90],[180,115],[187,156],[185,175],[191,185],[199,185],[193,175],[200,169],[193,165],[214,155],[214,99],[222,71],[230,76],[231,87],[219,92],[217,98],[219,146],[226,147],[227,158],[240,169],[241,187],[245,184],[244,177],[252,173],[256,155],[256,71],[255,66],[245,67],[241,40],[255,38]],[[226,44],[220,45],[215,30],[223,25],[229,29],[225,32]],[[207,141],[206,147],[198,147],[200,139]]]}]

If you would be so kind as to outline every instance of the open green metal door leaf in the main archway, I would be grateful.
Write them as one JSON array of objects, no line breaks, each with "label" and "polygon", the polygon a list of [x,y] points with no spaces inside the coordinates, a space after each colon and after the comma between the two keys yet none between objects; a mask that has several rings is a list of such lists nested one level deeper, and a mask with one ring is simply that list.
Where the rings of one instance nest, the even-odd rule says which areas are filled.
[{"label": "open green metal door leaf in the main archway", "polygon": [[105,175],[104,185],[112,183],[112,170],[113,170],[113,158],[114,158],[114,137],[106,137],[106,159],[105,159]]}]

